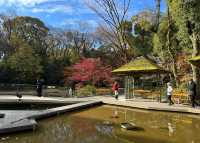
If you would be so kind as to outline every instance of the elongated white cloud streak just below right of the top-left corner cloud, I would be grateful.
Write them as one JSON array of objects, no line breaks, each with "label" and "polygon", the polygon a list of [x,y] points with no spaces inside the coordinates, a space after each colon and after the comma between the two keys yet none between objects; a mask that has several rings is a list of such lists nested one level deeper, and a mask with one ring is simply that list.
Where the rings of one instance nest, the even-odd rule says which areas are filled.
[{"label": "elongated white cloud streak just below right of the top-left corner cloud", "polygon": [[56,13],[56,12],[72,13],[73,8],[68,5],[54,5],[54,6],[49,6],[45,8],[35,7],[32,9],[32,12],[33,13]]}]

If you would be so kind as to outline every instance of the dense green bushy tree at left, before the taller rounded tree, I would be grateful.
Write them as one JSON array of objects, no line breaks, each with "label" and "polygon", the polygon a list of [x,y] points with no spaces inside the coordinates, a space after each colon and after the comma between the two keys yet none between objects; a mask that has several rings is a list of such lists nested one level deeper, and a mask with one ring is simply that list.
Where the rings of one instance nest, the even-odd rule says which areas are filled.
[{"label": "dense green bushy tree at left, before the taller rounded tree", "polygon": [[34,81],[42,73],[41,60],[35,56],[31,47],[18,39],[13,43],[16,52],[7,60],[10,69],[15,72],[20,81]]}]

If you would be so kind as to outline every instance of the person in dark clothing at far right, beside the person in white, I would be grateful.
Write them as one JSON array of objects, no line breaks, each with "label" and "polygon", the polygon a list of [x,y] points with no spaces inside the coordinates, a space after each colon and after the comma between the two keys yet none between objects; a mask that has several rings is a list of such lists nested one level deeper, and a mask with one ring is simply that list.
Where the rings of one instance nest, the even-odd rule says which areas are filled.
[{"label": "person in dark clothing at far right, beside the person in white", "polygon": [[198,104],[195,101],[195,97],[196,97],[196,83],[193,81],[193,79],[191,79],[189,81],[189,84],[188,84],[188,95],[190,97],[192,107],[194,108],[195,105],[198,105]]}]

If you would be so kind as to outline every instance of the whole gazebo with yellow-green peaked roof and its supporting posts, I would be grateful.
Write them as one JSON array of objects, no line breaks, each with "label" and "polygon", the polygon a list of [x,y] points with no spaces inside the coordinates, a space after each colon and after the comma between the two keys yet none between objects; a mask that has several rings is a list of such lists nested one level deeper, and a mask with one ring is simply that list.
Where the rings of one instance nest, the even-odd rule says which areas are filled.
[{"label": "whole gazebo with yellow-green peaked roof and its supporting posts", "polygon": [[152,60],[146,57],[138,57],[135,60],[121,66],[118,69],[112,71],[113,74],[125,77],[125,97],[126,99],[134,98],[134,78],[143,75],[153,75],[156,74],[160,77],[160,74],[170,73],[164,70],[162,67],[158,66]]}]

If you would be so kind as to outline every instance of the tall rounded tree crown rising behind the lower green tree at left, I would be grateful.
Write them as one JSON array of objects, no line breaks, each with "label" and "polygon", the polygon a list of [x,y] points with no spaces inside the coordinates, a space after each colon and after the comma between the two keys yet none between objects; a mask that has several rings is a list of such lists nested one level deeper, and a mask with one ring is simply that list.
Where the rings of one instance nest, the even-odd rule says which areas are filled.
[{"label": "tall rounded tree crown rising behind the lower green tree at left", "polygon": [[45,38],[49,29],[39,19],[18,16],[4,21],[3,27],[8,34],[8,40],[18,37],[29,44],[35,54],[46,54]]}]

